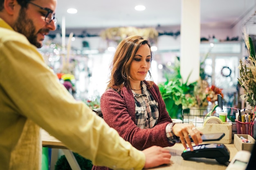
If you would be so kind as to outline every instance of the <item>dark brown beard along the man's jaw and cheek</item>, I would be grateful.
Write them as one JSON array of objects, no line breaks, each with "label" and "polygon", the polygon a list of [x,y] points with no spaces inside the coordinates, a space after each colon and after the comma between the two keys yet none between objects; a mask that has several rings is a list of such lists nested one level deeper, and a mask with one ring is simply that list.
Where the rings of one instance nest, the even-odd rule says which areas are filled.
[{"label": "dark brown beard along the man's jaw and cheek", "polygon": [[13,29],[27,37],[27,40],[37,48],[41,48],[42,44],[37,41],[36,28],[32,20],[27,18],[25,8],[20,9],[18,19],[13,25]]}]

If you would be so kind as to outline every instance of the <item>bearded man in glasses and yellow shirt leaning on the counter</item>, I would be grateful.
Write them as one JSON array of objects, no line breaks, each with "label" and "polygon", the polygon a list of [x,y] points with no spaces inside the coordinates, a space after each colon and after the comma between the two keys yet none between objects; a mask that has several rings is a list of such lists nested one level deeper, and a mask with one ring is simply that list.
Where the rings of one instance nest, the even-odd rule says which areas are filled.
[{"label": "bearded man in glasses and yellow shirt leaning on the counter", "polygon": [[168,150],[133,148],[76,101],[37,48],[56,29],[56,0],[0,0],[0,170],[39,170],[40,128],[94,165],[152,168],[170,163]]}]

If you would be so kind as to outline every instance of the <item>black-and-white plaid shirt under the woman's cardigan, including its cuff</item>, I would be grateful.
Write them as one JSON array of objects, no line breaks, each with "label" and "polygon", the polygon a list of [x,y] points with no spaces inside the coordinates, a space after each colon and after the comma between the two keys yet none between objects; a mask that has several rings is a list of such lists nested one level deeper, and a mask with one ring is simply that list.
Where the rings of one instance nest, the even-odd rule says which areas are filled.
[{"label": "black-and-white plaid shirt under the woman's cardigan, including its cuff", "polygon": [[[132,91],[135,100],[135,124],[141,129],[153,128],[157,124],[159,118],[158,103],[147,90],[146,84],[141,82],[142,94]],[[173,130],[174,123],[167,124],[166,137],[169,142],[180,142],[179,137],[176,137]]]}]

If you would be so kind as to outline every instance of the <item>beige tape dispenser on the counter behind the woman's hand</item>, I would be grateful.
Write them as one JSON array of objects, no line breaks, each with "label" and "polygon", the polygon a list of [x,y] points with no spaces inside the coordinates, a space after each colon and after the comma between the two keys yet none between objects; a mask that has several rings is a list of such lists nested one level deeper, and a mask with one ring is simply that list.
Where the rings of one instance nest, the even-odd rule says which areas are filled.
[{"label": "beige tape dispenser on the counter behind the woman's hand", "polygon": [[232,124],[228,122],[222,122],[222,120],[217,116],[210,116],[204,120],[202,128],[198,130],[203,133],[225,133],[225,136],[219,141],[211,141],[211,143],[222,143],[231,144],[232,142]]}]

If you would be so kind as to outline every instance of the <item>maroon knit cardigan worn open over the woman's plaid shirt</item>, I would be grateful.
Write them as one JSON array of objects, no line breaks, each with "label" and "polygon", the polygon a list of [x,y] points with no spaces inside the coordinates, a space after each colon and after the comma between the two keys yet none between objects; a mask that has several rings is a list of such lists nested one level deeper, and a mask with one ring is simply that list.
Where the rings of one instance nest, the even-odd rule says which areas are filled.
[{"label": "maroon knit cardigan worn open over the woman's plaid shirt", "polygon": [[[144,81],[148,88],[148,83]],[[158,86],[154,83],[148,88],[156,102],[158,102],[159,118],[153,128],[141,129],[135,124],[135,101],[130,88],[123,87],[118,93],[109,88],[101,96],[101,111],[106,123],[117,130],[119,135],[138,150],[150,146],[173,146],[166,137],[166,125],[171,123],[166,106]],[[93,170],[106,170],[105,167],[94,166]]]}]

